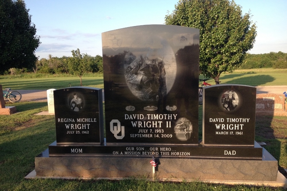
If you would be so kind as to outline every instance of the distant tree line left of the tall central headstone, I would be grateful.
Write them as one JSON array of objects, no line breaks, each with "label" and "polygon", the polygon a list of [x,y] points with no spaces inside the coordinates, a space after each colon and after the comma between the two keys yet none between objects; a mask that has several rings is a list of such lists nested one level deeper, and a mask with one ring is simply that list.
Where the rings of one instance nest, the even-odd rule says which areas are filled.
[{"label": "distant tree line left of the tall central headstone", "polygon": [[[31,68],[10,68],[6,70],[3,74],[5,75],[14,75],[14,74],[22,74],[28,72],[41,73],[41,74],[63,74],[63,73],[71,73],[74,71],[70,71],[68,68],[68,60],[71,57],[62,56],[61,58],[53,57],[49,54],[49,58],[41,58],[37,60],[33,67]],[[83,61],[87,66],[87,72],[103,72],[103,58],[100,55],[91,56],[88,54],[82,54]]]}]

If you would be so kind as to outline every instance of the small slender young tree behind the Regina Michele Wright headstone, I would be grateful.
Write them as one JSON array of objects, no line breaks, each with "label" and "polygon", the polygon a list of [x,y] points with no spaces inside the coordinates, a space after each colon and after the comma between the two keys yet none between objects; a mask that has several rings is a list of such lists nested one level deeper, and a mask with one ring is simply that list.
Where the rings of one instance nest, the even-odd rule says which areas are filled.
[{"label": "small slender young tree behind the Regina Michele Wright headstone", "polygon": [[88,62],[85,62],[83,56],[80,53],[80,50],[72,50],[73,57],[68,58],[68,70],[70,73],[80,77],[81,86],[82,85],[82,76],[84,73],[88,72],[90,65]]}]

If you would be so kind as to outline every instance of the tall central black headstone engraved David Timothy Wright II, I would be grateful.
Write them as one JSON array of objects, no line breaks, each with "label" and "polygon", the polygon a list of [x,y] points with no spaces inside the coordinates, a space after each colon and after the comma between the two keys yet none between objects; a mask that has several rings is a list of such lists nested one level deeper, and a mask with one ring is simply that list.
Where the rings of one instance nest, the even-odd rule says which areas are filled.
[{"label": "tall central black headstone engraved David Timothy Wright II", "polygon": [[197,145],[199,29],[128,27],[102,44],[107,144]]}]

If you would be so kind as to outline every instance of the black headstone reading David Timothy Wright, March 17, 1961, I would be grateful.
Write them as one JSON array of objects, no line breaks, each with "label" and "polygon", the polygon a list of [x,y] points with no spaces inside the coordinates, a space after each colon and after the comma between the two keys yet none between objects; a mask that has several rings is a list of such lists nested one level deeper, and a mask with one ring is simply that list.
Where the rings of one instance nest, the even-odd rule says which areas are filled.
[{"label": "black headstone reading David Timothy Wright, March 17, 1961", "polygon": [[254,147],[256,88],[220,84],[203,96],[203,144]]}]

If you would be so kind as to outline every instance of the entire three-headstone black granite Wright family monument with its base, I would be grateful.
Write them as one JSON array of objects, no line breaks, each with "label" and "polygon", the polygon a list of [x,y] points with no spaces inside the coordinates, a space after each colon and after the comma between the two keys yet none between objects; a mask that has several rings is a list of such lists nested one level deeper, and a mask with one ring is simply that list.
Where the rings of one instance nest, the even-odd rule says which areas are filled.
[{"label": "entire three-headstone black granite Wright family monument with its base", "polygon": [[163,179],[276,180],[276,159],[254,142],[254,87],[203,89],[199,144],[199,29],[117,29],[102,47],[106,144],[102,90],[55,90],[57,142],[35,158],[37,176],[148,177],[155,155]]}]

